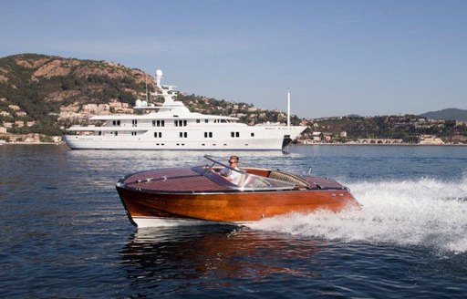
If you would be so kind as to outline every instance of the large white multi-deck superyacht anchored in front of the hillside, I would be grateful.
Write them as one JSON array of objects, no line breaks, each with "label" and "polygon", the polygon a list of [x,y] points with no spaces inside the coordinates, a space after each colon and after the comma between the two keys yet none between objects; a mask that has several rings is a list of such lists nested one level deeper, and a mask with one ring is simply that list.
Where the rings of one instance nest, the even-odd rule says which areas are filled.
[{"label": "large white multi-deck superyacht anchored in front of the hillside", "polygon": [[[283,149],[306,129],[290,126],[290,96],[287,105],[287,125],[248,126],[239,119],[191,112],[181,101],[174,100],[173,86],[161,85],[162,71],[156,70],[156,85],[162,96],[161,106],[136,101],[134,108],[142,115],[103,115],[90,120],[100,126],[72,126],[65,135],[70,149],[209,149],[231,150]],[[289,94],[290,95],[290,94]]]}]

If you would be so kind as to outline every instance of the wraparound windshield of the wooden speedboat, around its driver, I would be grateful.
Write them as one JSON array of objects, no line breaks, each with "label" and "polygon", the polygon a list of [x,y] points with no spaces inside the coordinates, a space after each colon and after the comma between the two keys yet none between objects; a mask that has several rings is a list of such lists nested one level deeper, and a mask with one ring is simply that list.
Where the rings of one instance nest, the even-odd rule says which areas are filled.
[{"label": "wraparound windshield of the wooden speedboat, around its driver", "polygon": [[[214,173],[216,172],[216,170],[219,170],[221,167],[228,168],[232,171],[237,171],[241,173],[241,179],[237,185],[233,185],[231,182],[228,182],[225,184],[226,187],[229,187],[231,189],[242,190],[242,191],[248,191],[248,190],[275,191],[275,190],[290,190],[296,187],[296,184],[289,182],[289,181],[265,178],[265,177],[255,175],[252,173],[247,173],[244,170],[235,170],[229,165],[226,165],[223,162],[216,160],[213,156],[204,155],[204,158],[212,162],[211,165],[207,165],[205,167],[205,172],[203,173],[203,175],[210,180],[213,180],[213,175],[218,176],[218,174],[214,174]],[[227,181],[225,180],[225,182]],[[220,183],[222,184],[222,182]]]}]

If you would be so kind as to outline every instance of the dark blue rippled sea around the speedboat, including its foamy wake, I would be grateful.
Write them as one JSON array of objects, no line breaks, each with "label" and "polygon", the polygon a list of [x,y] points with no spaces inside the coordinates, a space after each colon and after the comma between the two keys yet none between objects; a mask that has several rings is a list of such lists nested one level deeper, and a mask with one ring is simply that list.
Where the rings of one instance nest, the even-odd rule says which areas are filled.
[{"label": "dark blue rippled sea around the speedboat, including its foamy wake", "polygon": [[237,154],[336,178],[362,209],[137,230],[119,177],[204,152],[0,146],[0,297],[465,298],[467,147],[290,151]]}]

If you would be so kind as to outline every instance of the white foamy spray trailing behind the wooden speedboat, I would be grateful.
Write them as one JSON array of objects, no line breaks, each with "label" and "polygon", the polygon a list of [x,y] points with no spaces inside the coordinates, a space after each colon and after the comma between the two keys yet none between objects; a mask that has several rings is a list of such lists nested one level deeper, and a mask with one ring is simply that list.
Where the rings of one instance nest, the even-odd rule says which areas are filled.
[{"label": "white foamy spray trailing behind the wooden speedboat", "polygon": [[360,209],[288,214],[249,225],[344,242],[424,246],[467,253],[467,176],[346,183]]}]

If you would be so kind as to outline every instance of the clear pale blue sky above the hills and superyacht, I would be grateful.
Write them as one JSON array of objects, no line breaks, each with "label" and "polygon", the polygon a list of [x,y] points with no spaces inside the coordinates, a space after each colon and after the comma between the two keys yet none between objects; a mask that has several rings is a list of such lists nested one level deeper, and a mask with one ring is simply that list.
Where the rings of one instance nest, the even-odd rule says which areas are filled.
[{"label": "clear pale blue sky above the hills and superyacht", "polygon": [[118,62],[300,118],[467,109],[467,1],[0,0],[0,57]]}]

